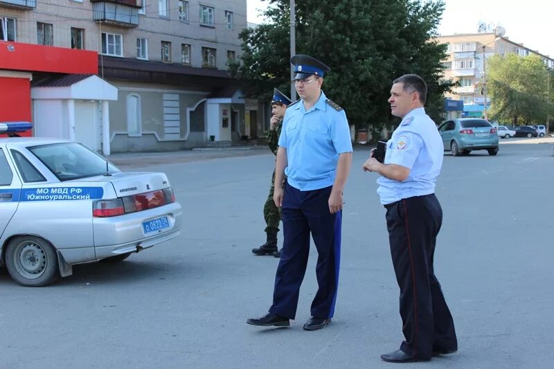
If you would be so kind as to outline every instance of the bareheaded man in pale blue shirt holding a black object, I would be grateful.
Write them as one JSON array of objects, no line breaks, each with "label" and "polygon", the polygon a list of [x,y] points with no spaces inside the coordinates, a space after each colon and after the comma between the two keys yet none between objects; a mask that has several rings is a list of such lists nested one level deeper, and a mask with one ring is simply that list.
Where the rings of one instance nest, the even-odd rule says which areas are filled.
[{"label": "bareheaded man in pale blue shirt holding a black object", "polygon": [[393,82],[391,113],[402,118],[386,145],[384,163],[373,157],[363,169],[377,172],[377,194],[386,208],[386,226],[406,341],[400,350],[383,354],[384,361],[429,361],[458,350],[452,314],[434,274],[436,238],[443,210],[435,183],[443,165],[443,141],[425,114],[427,84],[406,74]]}]

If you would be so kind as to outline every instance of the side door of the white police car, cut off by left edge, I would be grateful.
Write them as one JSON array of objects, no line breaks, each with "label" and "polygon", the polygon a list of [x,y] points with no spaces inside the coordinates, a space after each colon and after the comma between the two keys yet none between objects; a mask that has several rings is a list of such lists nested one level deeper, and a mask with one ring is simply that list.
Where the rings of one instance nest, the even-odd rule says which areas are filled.
[{"label": "side door of the white police car, cut off by left edge", "polygon": [[19,177],[6,157],[6,148],[0,146],[0,238],[17,210],[20,193]]}]

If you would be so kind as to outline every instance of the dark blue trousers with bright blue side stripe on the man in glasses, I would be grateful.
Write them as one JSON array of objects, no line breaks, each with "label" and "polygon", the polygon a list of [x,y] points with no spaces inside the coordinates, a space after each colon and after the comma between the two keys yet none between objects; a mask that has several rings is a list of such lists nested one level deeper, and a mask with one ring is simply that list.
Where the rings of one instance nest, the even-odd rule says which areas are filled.
[{"label": "dark blue trousers with bright blue side stripe on the man in glasses", "polygon": [[277,274],[273,305],[269,312],[294,319],[298,294],[310,253],[310,233],[318,258],[318,290],[312,302],[312,316],[332,318],[337,299],[341,255],[342,212],[329,212],[331,187],[301,191],[288,183],[283,197],[283,251]]}]

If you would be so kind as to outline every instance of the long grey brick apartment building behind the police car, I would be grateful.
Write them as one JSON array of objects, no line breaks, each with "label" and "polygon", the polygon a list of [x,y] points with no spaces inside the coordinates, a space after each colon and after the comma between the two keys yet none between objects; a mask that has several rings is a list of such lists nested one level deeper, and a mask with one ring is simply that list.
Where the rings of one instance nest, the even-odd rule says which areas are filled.
[{"label": "long grey brick apartment building behind the police car", "polygon": [[[95,150],[106,140],[111,152],[231,143],[256,136],[260,126],[256,111],[262,105],[244,100],[227,72],[228,62],[240,55],[246,9],[246,0],[0,0],[0,43],[15,50],[34,44],[43,51],[98,53],[97,78],[106,84],[82,72],[67,78],[63,69],[29,71],[32,115],[38,121],[68,108],[62,102],[53,109],[36,102],[35,95],[45,99],[48,91],[75,86],[116,88],[109,96],[115,100],[89,101],[92,106],[78,116],[93,117],[85,138]],[[0,70],[6,70],[2,60]],[[109,131],[102,133],[108,119]],[[55,133],[55,127],[42,133]]]}]

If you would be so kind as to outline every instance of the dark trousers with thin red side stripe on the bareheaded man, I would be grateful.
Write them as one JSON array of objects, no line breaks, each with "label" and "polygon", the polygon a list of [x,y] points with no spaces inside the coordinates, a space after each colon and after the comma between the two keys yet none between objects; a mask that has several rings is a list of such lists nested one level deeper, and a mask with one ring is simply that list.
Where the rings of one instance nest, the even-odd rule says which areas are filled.
[{"label": "dark trousers with thin red side stripe on the bareheaded man", "polygon": [[434,194],[409,197],[385,207],[406,339],[400,350],[424,360],[431,359],[434,351],[457,350],[452,314],[433,267],[443,223],[438,199]]}]

